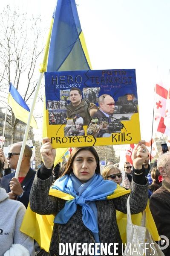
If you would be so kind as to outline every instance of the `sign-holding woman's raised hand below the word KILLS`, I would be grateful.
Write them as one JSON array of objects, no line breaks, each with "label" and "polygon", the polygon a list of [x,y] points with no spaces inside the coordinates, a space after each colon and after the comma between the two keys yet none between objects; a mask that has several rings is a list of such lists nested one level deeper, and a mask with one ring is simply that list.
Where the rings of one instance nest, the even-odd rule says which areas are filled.
[{"label": "sign-holding woman's raised hand below the word KILLS", "polygon": [[142,169],[144,161],[147,159],[148,150],[145,141],[139,141],[137,146],[134,147],[132,153],[133,166],[135,169]]}]

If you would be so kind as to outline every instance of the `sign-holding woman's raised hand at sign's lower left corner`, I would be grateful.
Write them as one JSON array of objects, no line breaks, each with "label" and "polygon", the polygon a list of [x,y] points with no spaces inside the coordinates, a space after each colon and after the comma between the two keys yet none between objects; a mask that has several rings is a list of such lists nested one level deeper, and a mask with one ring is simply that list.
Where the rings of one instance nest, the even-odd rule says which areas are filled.
[{"label": "sign-holding woman's raised hand at sign's lower left corner", "polygon": [[45,167],[47,169],[52,168],[55,160],[56,150],[55,148],[52,148],[52,144],[49,138],[43,138],[43,146],[41,147],[40,152]]}]

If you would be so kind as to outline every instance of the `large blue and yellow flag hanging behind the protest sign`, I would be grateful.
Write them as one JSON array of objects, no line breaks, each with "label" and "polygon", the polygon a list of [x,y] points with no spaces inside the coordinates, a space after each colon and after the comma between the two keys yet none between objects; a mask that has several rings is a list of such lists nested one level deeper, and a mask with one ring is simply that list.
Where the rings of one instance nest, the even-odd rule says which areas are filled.
[{"label": "large blue and yellow flag hanging behind the protest sign", "polygon": [[[40,73],[92,69],[75,0],[58,0],[52,15]],[[43,137],[47,136],[44,97]],[[56,149],[55,165],[68,148]]]}]

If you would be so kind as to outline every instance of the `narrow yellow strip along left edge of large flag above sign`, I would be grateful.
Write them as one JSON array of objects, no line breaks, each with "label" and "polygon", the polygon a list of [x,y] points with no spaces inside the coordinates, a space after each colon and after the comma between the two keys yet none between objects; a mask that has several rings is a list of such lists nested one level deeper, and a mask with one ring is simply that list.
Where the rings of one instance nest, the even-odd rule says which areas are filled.
[{"label": "narrow yellow strip along left edge of large flag above sign", "polygon": [[49,27],[49,33],[47,36],[47,41],[46,41],[46,47],[44,50],[44,58],[43,58],[43,63],[40,63],[39,71],[40,73],[46,72],[46,67],[47,67],[47,61],[48,61],[48,55],[49,55],[49,44],[50,44],[50,39],[51,39],[51,34],[52,34],[52,26],[53,26],[54,18],[52,18],[50,27]]}]

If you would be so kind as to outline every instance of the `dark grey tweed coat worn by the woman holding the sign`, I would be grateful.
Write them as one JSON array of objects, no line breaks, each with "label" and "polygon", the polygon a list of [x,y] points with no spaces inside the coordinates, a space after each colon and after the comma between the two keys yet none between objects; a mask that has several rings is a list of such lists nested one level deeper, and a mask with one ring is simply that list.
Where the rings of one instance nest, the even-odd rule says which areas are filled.
[{"label": "dark grey tweed coat worn by the woman holding the sign", "polygon": [[[30,207],[32,211],[41,215],[56,215],[63,209],[65,200],[49,196],[49,188],[52,184],[52,176],[49,179],[41,180],[35,176],[30,193]],[[127,213],[127,197],[124,196],[111,199],[95,201],[98,210],[98,229],[100,242],[105,244],[118,243],[118,254],[122,254],[122,241],[116,222],[116,209]],[[138,185],[132,181],[130,192],[131,213],[135,214],[143,211],[147,206],[148,182],[146,185]],[[49,256],[59,256],[59,243],[93,243],[92,232],[82,221],[81,206],[77,206],[76,212],[66,224],[54,224],[52,239],[49,248]],[[110,251],[113,252],[113,246]],[[80,251],[79,251],[80,252]],[[70,252],[68,253],[71,256]],[[75,254],[76,255],[76,250]]]}]

